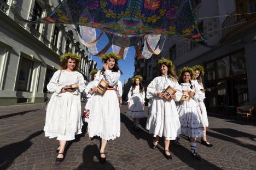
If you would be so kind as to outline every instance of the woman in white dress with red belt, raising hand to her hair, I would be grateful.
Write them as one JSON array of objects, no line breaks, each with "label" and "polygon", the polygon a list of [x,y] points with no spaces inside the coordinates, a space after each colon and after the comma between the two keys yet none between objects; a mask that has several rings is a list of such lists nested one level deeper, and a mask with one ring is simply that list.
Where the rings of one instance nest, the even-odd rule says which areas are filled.
[{"label": "woman in white dress with red belt, raising hand to her hair", "polygon": [[95,93],[91,98],[93,105],[88,126],[89,137],[101,137],[101,163],[106,162],[105,147],[107,141],[120,136],[120,108],[117,94],[113,88],[117,85],[121,75],[118,59],[118,55],[115,53],[104,54],[102,56],[103,68],[97,72],[93,82],[94,92],[97,92],[97,85],[102,78],[109,83],[103,95]]}]

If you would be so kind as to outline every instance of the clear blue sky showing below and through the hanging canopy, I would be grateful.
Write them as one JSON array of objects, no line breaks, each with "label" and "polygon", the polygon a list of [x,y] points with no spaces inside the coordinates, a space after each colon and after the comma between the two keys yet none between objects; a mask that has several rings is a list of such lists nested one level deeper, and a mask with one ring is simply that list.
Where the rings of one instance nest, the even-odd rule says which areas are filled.
[{"label": "clear blue sky showing below and through the hanging canopy", "polygon": [[[97,36],[100,32],[96,32]],[[97,43],[97,48],[102,49],[104,46],[108,44],[108,38],[106,35],[102,35],[101,39]],[[112,48],[110,47],[108,52],[112,52]],[[101,57],[93,56],[92,54],[89,54],[89,57],[92,57],[92,59],[97,62],[97,69],[102,69],[102,61]],[[135,48],[129,47],[129,50],[127,52],[126,58],[120,59],[118,61],[118,65],[120,70],[123,72],[123,75],[120,77],[120,81],[124,84],[125,80],[128,80],[129,78],[133,77],[133,72],[135,71],[134,67],[134,61],[135,61]]]}]

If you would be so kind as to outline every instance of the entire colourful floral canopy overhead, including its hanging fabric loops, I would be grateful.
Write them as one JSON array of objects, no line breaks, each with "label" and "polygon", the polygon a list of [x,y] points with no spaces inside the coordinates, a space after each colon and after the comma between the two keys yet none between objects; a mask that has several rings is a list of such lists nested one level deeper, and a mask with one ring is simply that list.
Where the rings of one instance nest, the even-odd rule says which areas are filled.
[{"label": "entire colourful floral canopy overhead, including its hanging fabric loops", "polygon": [[[23,20],[75,25],[84,45],[98,56],[110,46],[120,55],[127,51],[126,47],[135,46],[138,54],[139,43],[144,39],[144,54],[138,54],[142,58],[161,52],[159,40],[163,34],[203,41],[196,21],[189,0],[64,0],[47,17]],[[93,28],[102,31],[99,37]],[[96,43],[102,34],[107,34],[109,44],[98,52]]]}]

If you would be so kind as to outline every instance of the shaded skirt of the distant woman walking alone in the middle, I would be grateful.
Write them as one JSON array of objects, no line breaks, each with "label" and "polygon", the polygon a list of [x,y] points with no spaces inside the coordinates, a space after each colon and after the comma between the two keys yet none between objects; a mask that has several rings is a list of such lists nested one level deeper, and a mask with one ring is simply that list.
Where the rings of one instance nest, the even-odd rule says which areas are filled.
[{"label": "shaded skirt of the distant woman walking alone in the middle", "polygon": [[144,118],[144,108],[142,106],[141,96],[133,95],[131,96],[130,105],[127,111],[127,116],[131,118]]}]

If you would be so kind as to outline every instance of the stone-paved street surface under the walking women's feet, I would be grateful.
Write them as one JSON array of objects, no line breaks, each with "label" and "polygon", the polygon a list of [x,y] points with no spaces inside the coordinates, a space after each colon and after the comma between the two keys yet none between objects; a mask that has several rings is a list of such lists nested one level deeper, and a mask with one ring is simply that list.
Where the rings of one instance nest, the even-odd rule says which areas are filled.
[{"label": "stone-paved street surface under the walking women's feet", "polygon": [[[56,139],[44,137],[43,104],[0,107],[0,169],[256,169],[256,127],[219,116],[209,117],[207,148],[197,143],[202,160],[190,155],[189,142],[182,137],[181,147],[171,143],[172,160],[162,155],[164,142],[150,149],[153,137],[143,127],[135,132],[121,107],[121,136],[109,141],[107,163],[98,162],[99,140],[90,141],[82,133],[68,142],[66,158],[55,163]],[[85,130],[84,126],[84,130]],[[199,141],[199,139],[197,139]]]}]

